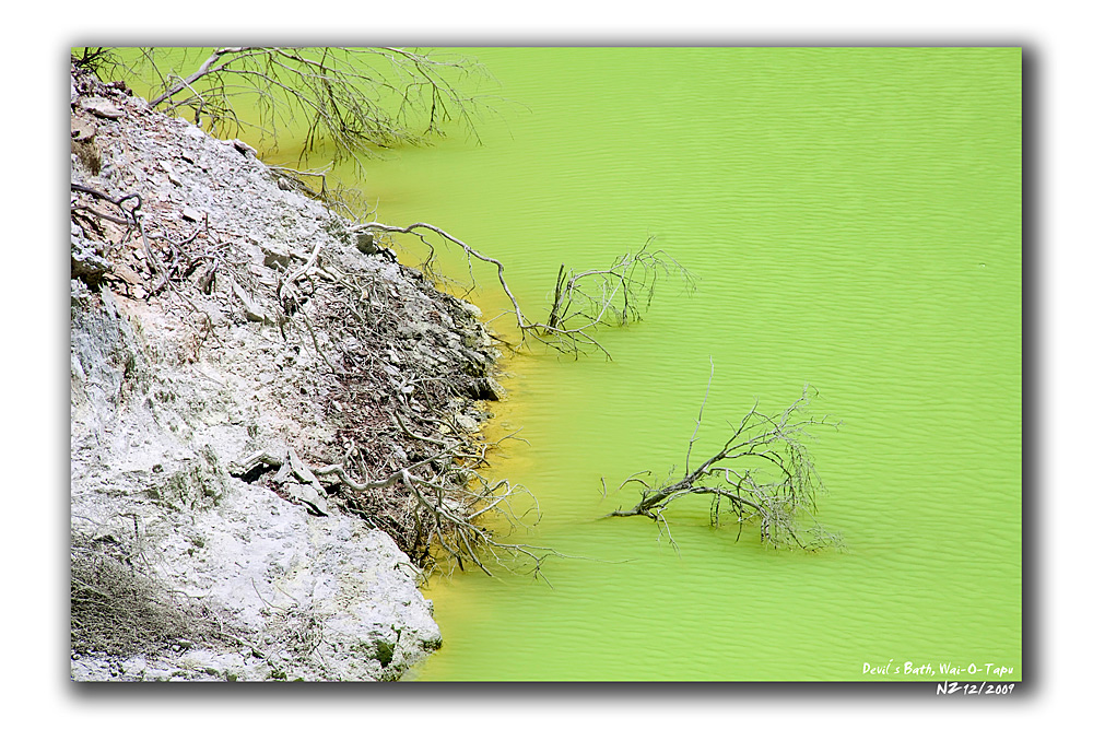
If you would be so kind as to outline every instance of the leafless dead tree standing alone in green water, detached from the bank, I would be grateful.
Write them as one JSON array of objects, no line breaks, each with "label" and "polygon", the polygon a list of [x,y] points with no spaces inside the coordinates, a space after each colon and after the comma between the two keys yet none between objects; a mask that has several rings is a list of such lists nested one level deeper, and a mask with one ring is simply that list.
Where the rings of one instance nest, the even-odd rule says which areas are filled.
[{"label": "leafless dead tree standing alone in green water, detached from the bank", "polygon": [[828,531],[815,517],[816,497],[825,490],[806,444],[814,437],[815,428],[838,426],[827,415],[809,414],[815,392],[806,386],[801,397],[776,416],[759,412],[756,402],[720,449],[691,468],[704,400],[687,444],[683,478],[657,486],[647,481],[650,471],[631,475],[619,490],[640,484],[640,499],[633,507],[619,508],[606,517],[644,516],[667,530],[671,539],[665,516],[668,508],[680,498],[708,496],[710,525],[734,522],[738,541],[745,524],[757,522],[760,540],[775,548],[812,551],[839,545],[839,536]]}]

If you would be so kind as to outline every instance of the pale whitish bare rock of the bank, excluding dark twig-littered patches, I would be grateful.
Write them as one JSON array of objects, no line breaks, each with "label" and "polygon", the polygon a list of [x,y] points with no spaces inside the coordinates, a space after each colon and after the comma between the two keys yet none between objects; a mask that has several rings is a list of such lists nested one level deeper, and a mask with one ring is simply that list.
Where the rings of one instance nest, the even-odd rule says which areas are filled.
[{"label": "pale whitish bare rock of the bank, excluding dark twig-littered patches", "polygon": [[[73,153],[74,184],[113,197],[139,192],[143,210],[179,230],[208,214],[219,240],[249,257],[257,277],[278,251],[306,257],[326,236],[325,255],[371,268],[398,295],[436,307],[420,277],[331,235],[331,212],[282,189],[244,145],[87,78],[73,77],[72,106],[73,140],[101,155],[94,169],[89,155]],[[113,266],[132,280],[143,255],[132,248],[129,259],[114,251],[111,264],[73,224],[73,539],[139,546],[164,589],[200,605],[225,638],[179,638],[153,655],[73,652],[72,678],[398,679],[440,644],[406,554],[356,516],[333,508],[320,516],[230,472],[256,450],[303,452],[331,440],[316,403],[337,383],[307,348],[286,351],[262,311],[269,303],[248,302],[223,282],[195,299],[219,340],[201,345],[201,317],[169,292],[150,296],[146,271],[129,285],[77,277],[83,266]],[[466,332],[442,333],[453,352],[466,352]]]}]

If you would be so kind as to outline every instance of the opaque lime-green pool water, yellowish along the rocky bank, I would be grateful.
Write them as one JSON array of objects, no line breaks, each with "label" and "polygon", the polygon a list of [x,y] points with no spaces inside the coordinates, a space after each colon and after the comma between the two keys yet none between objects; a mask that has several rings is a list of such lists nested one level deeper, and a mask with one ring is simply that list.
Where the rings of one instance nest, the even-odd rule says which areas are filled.
[{"label": "opaque lime-green pool water, yellowish along the rocky bank", "polygon": [[[495,474],[529,540],[602,560],[542,581],[434,580],[423,680],[900,680],[862,665],[1021,678],[1019,49],[473,49],[502,84],[485,145],[368,166],[380,219],[425,220],[506,262],[526,308],[557,266],[649,234],[701,277],[608,332],[613,362],[520,357]],[[313,163],[314,164],[314,163]],[[487,315],[501,309],[478,273]],[[640,469],[804,383],[844,421],[813,447],[847,553],[672,521],[600,520]],[[956,678],[956,677],[953,677]],[[959,677],[972,678],[967,674]],[[985,678],[982,673],[974,677]]]}]

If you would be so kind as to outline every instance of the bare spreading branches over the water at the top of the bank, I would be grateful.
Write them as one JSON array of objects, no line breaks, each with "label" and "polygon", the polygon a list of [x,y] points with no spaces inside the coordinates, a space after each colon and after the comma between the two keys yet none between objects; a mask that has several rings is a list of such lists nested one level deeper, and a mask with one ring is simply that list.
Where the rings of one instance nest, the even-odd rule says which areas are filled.
[{"label": "bare spreading branches over the water at the top of the bank", "polygon": [[[214,49],[189,68],[166,68],[157,48],[140,48],[160,80],[151,106],[186,110],[214,134],[254,129],[277,143],[286,125],[306,125],[302,156],[329,144],[334,162],[371,156],[380,149],[419,144],[443,136],[455,121],[478,139],[473,119],[480,102],[463,91],[466,80],[485,78],[462,56],[410,48],[234,46]],[[187,54],[184,63],[189,62]],[[74,49],[73,62],[110,75],[131,77],[105,48]],[[238,105],[257,113],[248,118]]]}]

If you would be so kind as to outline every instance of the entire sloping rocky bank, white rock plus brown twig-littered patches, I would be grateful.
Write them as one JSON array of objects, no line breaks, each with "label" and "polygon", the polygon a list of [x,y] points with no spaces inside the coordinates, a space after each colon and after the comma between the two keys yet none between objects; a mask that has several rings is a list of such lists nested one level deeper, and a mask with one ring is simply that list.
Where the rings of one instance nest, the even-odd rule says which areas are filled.
[{"label": "entire sloping rocky bank, white rock plus brown twig-littered patches", "polygon": [[75,69],[72,148],[73,679],[397,679],[440,643],[411,496],[320,467],[474,431],[473,307]]}]

